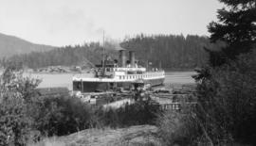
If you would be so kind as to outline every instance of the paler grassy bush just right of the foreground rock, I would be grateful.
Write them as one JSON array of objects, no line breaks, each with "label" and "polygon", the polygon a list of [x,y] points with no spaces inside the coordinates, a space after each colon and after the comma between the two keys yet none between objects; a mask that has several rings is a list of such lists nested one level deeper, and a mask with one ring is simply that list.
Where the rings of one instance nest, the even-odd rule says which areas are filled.
[{"label": "paler grassy bush just right of the foreground rock", "polygon": [[197,145],[201,130],[192,117],[192,108],[186,108],[181,111],[168,110],[158,116],[156,123],[163,145]]}]

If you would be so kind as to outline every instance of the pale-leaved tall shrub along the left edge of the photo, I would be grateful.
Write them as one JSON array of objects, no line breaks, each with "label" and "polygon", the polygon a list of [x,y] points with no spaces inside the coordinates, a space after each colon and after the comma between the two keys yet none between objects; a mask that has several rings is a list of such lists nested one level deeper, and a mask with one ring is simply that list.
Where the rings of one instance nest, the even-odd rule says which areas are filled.
[{"label": "pale-leaved tall shrub along the left edge of the photo", "polygon": [[14,66],[0,77],[0,144],[25,145],[32,119],[27,105],[38,80],[22,77]]}]

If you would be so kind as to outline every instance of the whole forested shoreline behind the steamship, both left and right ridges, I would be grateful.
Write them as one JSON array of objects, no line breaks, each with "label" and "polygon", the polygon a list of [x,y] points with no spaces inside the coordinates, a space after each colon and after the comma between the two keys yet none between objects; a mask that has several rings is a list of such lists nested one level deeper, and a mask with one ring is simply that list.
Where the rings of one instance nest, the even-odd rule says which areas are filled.
[{"label": "whole forested shoreline behind the steamship, both left and right ridges", "polygon": [[[105,43],[106,54],[118,58],[117,45]],[[165,69],[194,69],[201,67],[207,60],[208,49],[218,49],[216,44],[210,44],[207,37],[187,36],[144,36],[126,39],[120,46],[127,50],[136,51],[137,60],[146,66],[152,62],[153,67]],[[128,53],[127,53],[128,56]],[[2,59],[1,64],[8,64],[9,60],[23,64],[29,68],[41,68],[56,65],[88,65],[101,63],[102,46],[100,42],[84,43],[83,45],[65,46],[48,52],[32,52],[26,55],[16,55],[9,59]]]}]

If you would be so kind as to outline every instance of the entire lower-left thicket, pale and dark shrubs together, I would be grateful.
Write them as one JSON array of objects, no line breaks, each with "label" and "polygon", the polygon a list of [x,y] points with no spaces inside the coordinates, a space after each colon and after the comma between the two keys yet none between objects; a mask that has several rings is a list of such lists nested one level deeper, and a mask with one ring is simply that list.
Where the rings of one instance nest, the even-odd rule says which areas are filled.
[{"label": "entire lower-left thicket, pale and dark shrubs together", "polygon": [[0,145],[63,136],[90,126],[91,108],[75,97],[39,96],[39,80],[10,66],[0,77]]}]

